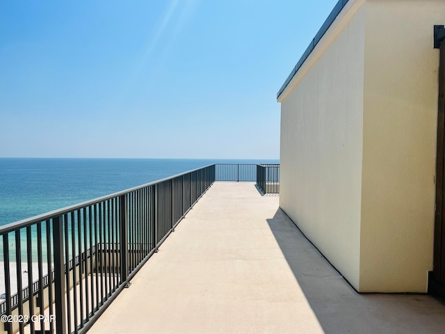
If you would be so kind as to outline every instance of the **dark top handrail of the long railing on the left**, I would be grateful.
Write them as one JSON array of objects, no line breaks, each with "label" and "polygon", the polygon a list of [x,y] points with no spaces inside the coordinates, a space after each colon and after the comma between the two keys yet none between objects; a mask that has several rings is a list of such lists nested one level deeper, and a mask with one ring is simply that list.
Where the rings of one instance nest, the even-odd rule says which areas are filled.
[{"label": "dark top handrail of the long railing on the left", "polygon": [[39,214],[38,216],[33,216],[33,217],[30,217],[30,218],[22,219],[21,221],[16,221],[14,223],[9,223],[9,224],[6,224],[6,225],[2,225],[2,226],[0,226],[0,235],[1,234],[6,234],[8,232],[13,232],[13,231],[15,231],[15,230],[17,230],[19,228],[26,228],[27,226],[32,225],[33,223],[39,223],[41,221],[54,218],[56,216],[61,216],[63,214],[67,214],[68,212],[72,212],[72,211],[75,211],[77,209],[82,209],[83,207],[88,207],[90,205],[95,205],[95,204],[97,204],[99,202],[103,202],[104,200],[109,200],[111,198],[115,198],[115,197],[118,197],[118,196],[126,195],[127,193],[131,193],[131,191],[136,191],[136,190],[139,190],[139,189],[143,189],[146,186],[152,186],[154,184],[158,184],[158,183],[161,183],[161,182],[164,182],[164,181],[167,181],[167,180],[172,180],[172,179],[175,179],[176,177],[179,177],[179,176],[182,176],[182,175],[186,175],[188,173],[193,173],[196,170],[204,169],[204,168],[207,168],[207,167],[210,167],[210,166],[214,166],[214,165],[216,165],[216,164],[210,164],[210,165],[203,166],[203,167],[200,167],[200,168],[195,168],[195,169],[192,169],[192,170],[188,170],[188,171],[186,171],[184,173],[180,173],[180,174],[173,175],[173,176],[170,176],[170,177],[165,177],[165,178],[163,178],[161,180],[156,180],[156,181],[153,181],[153,182],[142,184],[140,186],[134,186],[133,188],[129,188],[129,189],[125,189],[125,190],[122,190],[122,191],[118,191],[117,193],[111,193],[110,195],[102,196],[102,197],[95,198],[95,199],[92,199],[92,200],[87,200],[86,202],[81,202],[81,203],[78,203],[78,204],[70,205],[68,207],[63,207],[61,209],[56,209],[54,211],[46,212],[44,214]]}]

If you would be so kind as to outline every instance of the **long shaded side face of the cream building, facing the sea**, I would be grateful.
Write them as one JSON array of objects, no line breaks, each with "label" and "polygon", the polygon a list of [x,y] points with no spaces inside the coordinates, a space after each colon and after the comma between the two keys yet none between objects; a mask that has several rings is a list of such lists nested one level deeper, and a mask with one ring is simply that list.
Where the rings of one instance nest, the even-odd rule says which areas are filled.
[{"label": "long shaded side face of the cream building, facing the sea", "polygon": [[365,12],[355,10],[282,100],[280,207],[358,288]]}]

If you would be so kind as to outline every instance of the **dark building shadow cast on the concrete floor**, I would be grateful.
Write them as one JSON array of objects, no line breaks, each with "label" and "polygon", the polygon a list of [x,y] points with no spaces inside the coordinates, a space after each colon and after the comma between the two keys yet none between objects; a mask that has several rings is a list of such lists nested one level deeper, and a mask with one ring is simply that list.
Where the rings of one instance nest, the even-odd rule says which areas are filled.
[{"label": "dark building shadow cast on the concrete floor", "polygon": [[268,225],[325,333],[445,333],[445,304],[426,295],[358,294],[282,209]]}]

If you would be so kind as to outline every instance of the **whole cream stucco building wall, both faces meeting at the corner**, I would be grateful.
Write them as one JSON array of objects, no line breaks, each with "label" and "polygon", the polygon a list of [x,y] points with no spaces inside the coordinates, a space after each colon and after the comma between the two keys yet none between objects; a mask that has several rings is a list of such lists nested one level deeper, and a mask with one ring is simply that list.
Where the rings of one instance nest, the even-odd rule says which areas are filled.
[{"label": "whole cream stucco building wall, both faces meeting at the corner", "polygon": [[426,292],[442,0],[350,0],[280,95],[280,207],[359,292]]}]

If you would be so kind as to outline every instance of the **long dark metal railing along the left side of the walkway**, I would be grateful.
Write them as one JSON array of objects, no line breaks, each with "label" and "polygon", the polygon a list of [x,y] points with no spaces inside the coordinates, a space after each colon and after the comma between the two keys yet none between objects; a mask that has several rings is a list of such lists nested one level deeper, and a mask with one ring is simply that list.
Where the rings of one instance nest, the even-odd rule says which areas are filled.
[{"label": "long dark metal railing along the left side of the walkway", "polygon": [[198,168],[0,227],[5,331],[87,331],[215,175]]}]

